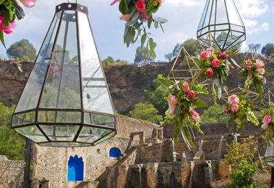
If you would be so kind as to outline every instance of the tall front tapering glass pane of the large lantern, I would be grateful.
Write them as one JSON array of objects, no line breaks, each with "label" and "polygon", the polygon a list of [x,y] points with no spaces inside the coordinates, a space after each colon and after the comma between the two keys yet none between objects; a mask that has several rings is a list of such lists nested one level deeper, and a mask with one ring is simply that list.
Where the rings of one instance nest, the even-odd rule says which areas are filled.
[{"label": "tall front tapering glass pane of the large lantern", "polygon": [[65,11],[40,107],[81,109],[75,11]]}]

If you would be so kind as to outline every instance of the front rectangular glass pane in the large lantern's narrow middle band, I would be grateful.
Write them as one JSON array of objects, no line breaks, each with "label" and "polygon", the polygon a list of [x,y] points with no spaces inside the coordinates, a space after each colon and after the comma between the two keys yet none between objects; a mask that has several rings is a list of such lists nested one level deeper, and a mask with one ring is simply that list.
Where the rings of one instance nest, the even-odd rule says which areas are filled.
[{"label": "front rectangular glass pane in the large lantern's narrow middle band", "polygon": [[79,111],[39,111],[38,122],[81,122]]}]

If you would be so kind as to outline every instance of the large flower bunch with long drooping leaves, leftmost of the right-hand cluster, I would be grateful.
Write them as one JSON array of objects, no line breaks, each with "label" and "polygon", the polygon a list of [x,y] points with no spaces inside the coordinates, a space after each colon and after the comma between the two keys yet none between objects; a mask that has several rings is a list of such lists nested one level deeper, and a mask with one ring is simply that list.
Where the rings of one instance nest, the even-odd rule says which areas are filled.
[{"label": "large flower bunch with long drooping leaves, leftmost of the right-hand cluster", "polygon": [[160,81],[169,87],[169,92],[165,96],[165,100],[169,103],[169,109],[166,111],[162,126],[173,122],[175,140],[182,133],[186,145],[188,148],[192,148],[195,145],[192,142],[189,128],[194,127],[197,132],[203,134],[200,129],[201,118],[195,109],[208,106],[197,97],[199,94],[208,94],[208,90],[203,85],[189,81],[171,81],[164,78]]}]

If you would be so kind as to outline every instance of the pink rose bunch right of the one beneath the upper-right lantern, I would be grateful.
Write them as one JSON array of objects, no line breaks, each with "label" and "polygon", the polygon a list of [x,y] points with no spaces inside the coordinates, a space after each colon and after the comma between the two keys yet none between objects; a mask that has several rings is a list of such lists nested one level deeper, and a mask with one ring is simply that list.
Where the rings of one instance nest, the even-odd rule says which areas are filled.
[{"label": "pink rose bunch right of the one beneath the upper-right lantern", "polygon": [[264,75],[267,74],[264,62],[260,59],[247,59],[245,61],[245,67],[242,68],[240,74],[247,78],[244,88],[249,90],[250,85],[253,85],[256,92],[258,92],[262,98],[263,88],[266,84]]}]

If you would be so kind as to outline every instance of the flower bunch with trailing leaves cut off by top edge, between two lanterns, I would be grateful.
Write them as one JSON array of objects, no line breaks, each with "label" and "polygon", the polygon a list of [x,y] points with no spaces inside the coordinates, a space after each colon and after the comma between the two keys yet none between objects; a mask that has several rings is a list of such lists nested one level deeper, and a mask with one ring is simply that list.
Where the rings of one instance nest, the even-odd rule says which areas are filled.
[{"label": "flower bunch with trailing leaves cut off by top edge, between two lanterns", "polygon": [[[164,0],[114,0],[110,5],[119,2],[119,11],[122,16],[121,20],[125,21],[124,43],[134,44],[141,36],[141,46],[147,41],[147,52],[149,51],[154,57],[156,43],[147,33],[147,27],[150,29],[153,23],[157,29],[159,26],[163,30],[162,24],[166,23],[165,18],[153,16],[158,11]],[[147,27],[145,25],[147,23]],[[163,30],[164,31],[164,30]]]}]

